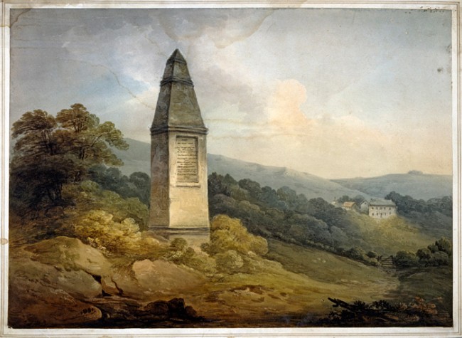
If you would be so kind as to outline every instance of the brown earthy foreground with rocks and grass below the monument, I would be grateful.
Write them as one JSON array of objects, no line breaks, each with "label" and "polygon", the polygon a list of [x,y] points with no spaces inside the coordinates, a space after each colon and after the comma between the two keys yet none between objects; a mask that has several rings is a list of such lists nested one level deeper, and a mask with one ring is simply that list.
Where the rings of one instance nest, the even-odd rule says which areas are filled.
[{"label": "brown earthy foreground with rocks and grass below the monument", "polygon": [[245,273],[204,275],[164,260],[107,258],[64,236],[17,245],[9,326],[335,326],[323,321],[333,310],[328,297],[372,302],[409,290],[398,275],[331,253],[276,241],[269,248]]}]

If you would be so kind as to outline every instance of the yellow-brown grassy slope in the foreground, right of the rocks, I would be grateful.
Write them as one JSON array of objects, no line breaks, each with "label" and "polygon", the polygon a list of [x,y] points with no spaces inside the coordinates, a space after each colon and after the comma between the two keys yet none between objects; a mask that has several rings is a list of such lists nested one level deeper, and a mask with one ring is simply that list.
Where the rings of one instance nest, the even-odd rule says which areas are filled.
[{"label": "yellow-brown grassy slope in the foreground, right of the rocks", "polygon": [[254,261],[254,272],[223,274],[184,297],[205,317],[239,322],[323,316],[332,310],[328,297],[372,302],[387,298],[399,284],[379,268],[279,241],[269,241],[265,258]]}]

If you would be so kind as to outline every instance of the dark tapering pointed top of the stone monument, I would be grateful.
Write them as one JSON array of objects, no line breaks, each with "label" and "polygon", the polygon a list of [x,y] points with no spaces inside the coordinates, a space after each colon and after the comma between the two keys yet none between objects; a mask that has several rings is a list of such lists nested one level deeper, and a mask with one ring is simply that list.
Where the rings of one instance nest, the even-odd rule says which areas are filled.
[{"label": "dark tapering pointed top of the stone monument", "polygon": [[166,132],[172,128],[207,132],[188,64],[178,49],[168,58],[163,72],[151,133]]}]

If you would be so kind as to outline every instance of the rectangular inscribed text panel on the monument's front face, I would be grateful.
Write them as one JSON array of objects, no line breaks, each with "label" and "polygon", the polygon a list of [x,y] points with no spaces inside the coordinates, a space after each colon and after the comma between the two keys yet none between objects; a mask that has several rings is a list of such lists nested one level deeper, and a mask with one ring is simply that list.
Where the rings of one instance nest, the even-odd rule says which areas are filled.
[{"label": "rectangular inscribed text panel on the monument's front face", "polygon": [[196,137],[176,137],[175,154],[176,183],[198,183],[198,139]]}]

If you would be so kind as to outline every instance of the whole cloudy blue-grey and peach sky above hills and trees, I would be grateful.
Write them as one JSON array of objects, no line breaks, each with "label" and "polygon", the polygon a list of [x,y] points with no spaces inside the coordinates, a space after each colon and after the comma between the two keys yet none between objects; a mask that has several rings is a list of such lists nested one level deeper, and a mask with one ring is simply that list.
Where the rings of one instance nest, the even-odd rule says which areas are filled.
[{"label": "whole cloudy blue-grey and peach sky above hills and trees", "polygon": [[328,179],[451,174],[451,11],[12,9],[10,123],[80,102],[150,142],[179,48],[208,153]]}]

